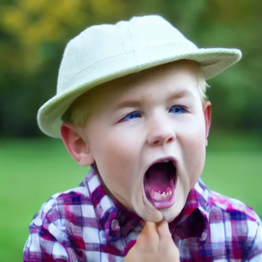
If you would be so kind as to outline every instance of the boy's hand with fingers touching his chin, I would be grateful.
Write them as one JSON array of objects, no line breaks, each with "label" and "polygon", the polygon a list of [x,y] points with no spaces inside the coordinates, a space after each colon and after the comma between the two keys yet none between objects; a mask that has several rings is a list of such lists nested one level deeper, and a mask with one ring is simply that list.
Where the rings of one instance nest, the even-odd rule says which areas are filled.
[{"label": "boy's hand with fingers touching his chin", "polygon": [[137,237],[136,244],[129,250],[124,262],[177,262],[179,250],[174,244],[168,223],[146,222]]}]

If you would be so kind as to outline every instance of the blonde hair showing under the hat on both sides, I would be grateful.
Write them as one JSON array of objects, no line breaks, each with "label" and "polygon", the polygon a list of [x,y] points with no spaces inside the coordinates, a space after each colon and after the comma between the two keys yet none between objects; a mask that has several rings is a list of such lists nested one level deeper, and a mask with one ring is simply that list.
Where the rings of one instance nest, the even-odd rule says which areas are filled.
[{"label": "blonde hair showing under the hat on both sides", "polygon": [[[202,68],[200,68],[199,74],[198,74],[198,90],[202,99],[202,102],[204,102],[207,99],[207,88],[210,86],[207,84],[204,72],[202,71]],[[84,127],[86,123],[88,122],[88,119],[92,113],[92,109],[94,105],[96,104],[96,100],[90,100],[91,92],[94,90],[90,90],[85,92],[83,95],[78,97],[68,108],[68,110],[63,114],[61,120],[63,122],[71,122],[79,127]]]}]

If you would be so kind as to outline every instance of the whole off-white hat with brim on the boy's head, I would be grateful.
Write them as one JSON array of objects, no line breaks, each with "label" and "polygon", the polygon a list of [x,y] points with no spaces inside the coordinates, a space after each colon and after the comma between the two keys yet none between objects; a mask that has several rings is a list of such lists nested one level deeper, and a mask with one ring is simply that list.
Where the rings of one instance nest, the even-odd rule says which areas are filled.
[{"label": "whole off-white hat with brim on the boy's head", "polygon": [[77,97],[104,82],[181,59],[197,61],[209,79],[241,56],[237,49],[199,49],[158,15],[89,27],[65,48],[56,95],[39,108],[38,126],[60,138],[62,115]]}]

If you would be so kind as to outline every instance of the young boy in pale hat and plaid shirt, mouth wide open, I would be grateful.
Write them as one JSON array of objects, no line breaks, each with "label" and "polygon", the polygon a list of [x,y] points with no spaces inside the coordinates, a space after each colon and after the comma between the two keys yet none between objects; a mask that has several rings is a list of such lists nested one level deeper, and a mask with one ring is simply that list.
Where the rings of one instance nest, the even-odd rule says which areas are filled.
[{"label": "young boy in pale hat and plaid shirt, mouth wide open", "polygon": [[30,224],[24,261],[262,261],[262,226],[200,180],[206,79],[241,58],[157,15],[93,26],[65,48],[40,129],[91,166]]}]

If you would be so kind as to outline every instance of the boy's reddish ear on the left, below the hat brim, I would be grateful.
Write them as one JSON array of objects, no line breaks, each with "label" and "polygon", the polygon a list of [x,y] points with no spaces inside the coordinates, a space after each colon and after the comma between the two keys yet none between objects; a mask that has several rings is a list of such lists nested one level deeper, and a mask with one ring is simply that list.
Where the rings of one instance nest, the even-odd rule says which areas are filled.
[{"label": "boy's reddish ear on the left, below the hat brim", "polygon": [[94,163],[89,145],[84,139],[82,128],[66,122],[61,125],[60,133],[69,154],[79,165],[88,166]]}]

